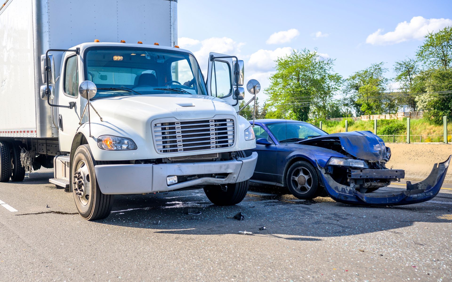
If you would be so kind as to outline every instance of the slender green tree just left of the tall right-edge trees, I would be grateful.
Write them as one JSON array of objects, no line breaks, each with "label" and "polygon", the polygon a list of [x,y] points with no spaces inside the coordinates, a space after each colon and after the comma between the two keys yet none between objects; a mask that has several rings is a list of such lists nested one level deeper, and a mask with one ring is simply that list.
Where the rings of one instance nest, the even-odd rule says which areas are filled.
[{"label": "slender green tree just left of the tall right-edge trees", "polygon": [[414,79],[419,74],[419,63],[412,58],[396,61],[394,72],[397,74],[394,81],[400,84],[399,90],[405,94],[399,97],[399,104],[408,105],[411,109],[417,111],[416,99],[412,93],[414,91]]}]

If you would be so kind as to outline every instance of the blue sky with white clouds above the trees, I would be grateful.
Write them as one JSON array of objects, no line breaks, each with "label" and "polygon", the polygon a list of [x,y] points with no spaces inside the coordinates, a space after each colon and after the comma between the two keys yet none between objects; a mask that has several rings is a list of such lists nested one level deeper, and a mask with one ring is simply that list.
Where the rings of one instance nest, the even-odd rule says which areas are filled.
[{"label": "blue sky with white clouds above the trees", "polygon": [[344,78],[379,62],[392,78],[395,61],[414,57],[427,32],[452,25],[452,0],[376,2],[179,0],[178,44],[205,76],[209,52],[236,55],[245,61],[245,82],[266,88],[274,60],[303,48],[334,59]]}]

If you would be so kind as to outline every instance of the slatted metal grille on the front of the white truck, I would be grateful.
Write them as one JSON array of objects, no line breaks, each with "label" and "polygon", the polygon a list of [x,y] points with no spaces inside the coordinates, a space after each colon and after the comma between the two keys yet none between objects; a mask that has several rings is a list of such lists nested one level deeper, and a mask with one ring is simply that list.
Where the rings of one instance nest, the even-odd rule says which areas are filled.
[{"label": "slatted metal grille on the front of the white truck", "polygon": [[159,153],[180,153],[228,148],[234,145],[234,120],[158,120],[153,122]]}]

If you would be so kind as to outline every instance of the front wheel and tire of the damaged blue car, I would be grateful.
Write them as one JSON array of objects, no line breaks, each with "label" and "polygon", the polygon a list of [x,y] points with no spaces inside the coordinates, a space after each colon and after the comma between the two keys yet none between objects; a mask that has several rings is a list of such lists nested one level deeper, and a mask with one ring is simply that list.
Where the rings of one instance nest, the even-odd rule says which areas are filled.
[{"label": "front wheel and tire of the damaged blue car", "polygon": [[286,184],[292,195],[298,199],[310,200],[317,197],[319,177],[314,166],[308,162],[299,161],[287,170]]}]

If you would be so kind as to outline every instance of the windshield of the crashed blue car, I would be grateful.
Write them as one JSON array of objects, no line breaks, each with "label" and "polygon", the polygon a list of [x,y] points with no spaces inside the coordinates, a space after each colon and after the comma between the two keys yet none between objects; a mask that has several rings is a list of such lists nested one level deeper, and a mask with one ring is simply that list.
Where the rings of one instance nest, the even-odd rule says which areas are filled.
[{"label": "windshield of the crashed blue car", "polygon": [[303,122],[278,122],[268,124],[267,127],[279,142],[297,142],[328,134],[314,125]]}]

